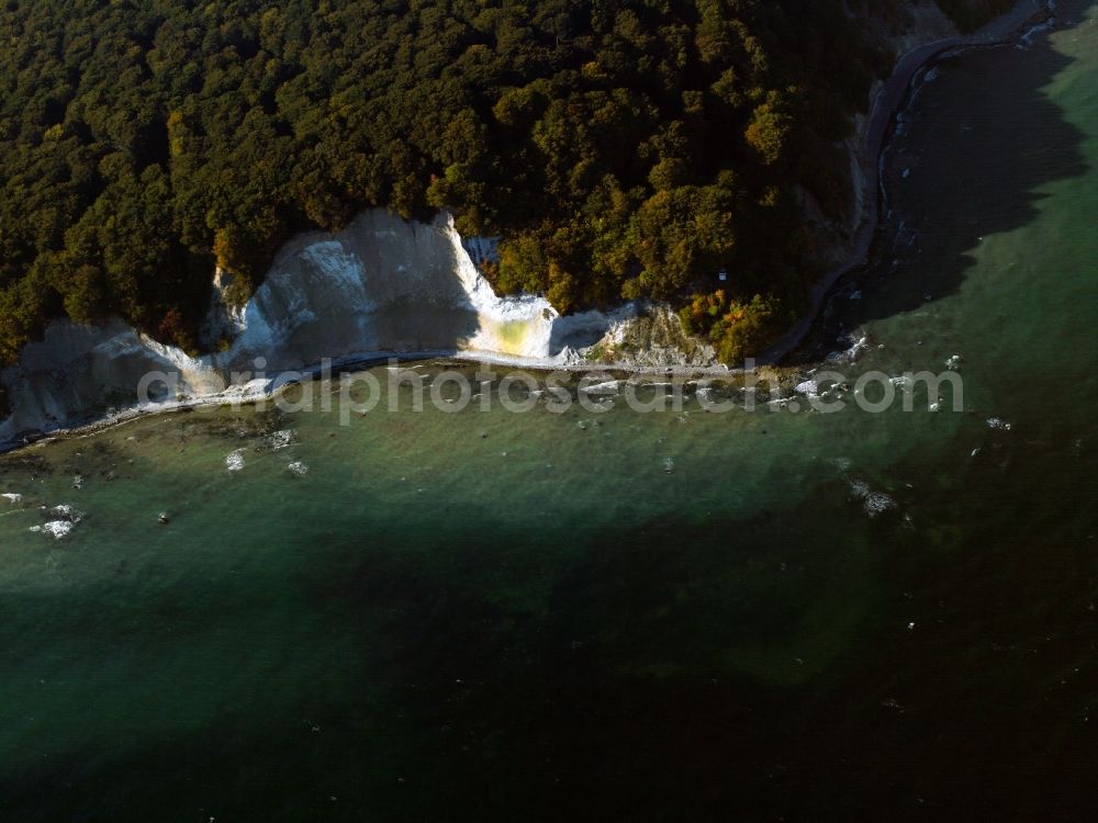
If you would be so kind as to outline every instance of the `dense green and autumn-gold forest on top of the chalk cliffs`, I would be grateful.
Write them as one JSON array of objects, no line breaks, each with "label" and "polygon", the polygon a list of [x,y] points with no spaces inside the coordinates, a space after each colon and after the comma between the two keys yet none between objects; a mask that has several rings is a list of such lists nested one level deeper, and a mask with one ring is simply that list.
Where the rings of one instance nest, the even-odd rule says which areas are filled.
[{"label": "dense green and autumn-gold forest on top of the chalk cliffs", "polygon": [[849,196],[889,61],[852,7],[5,0],[0,361],[63,315],[193,350],[215,261],[243,300],[368,205],[503,235],[496,288],[562,311],[676,300],[738,358],[815,277],[795,192]]}]

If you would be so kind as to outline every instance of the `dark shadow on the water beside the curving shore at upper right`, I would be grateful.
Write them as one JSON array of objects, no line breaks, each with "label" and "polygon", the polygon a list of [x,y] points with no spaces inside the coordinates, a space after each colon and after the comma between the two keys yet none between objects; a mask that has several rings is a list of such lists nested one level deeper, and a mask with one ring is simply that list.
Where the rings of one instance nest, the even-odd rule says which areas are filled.
[{"label": "dark shadow on the water beside the curving shore at upper right", "polygon": [[956,294],[983,238],[1029,225],[1045,184],[1087,172],[1084,133],[1044,91],[1072,61],[1041,34],[1024,50],[939,63],[886,154],[878,262],[854,275],[864,297],[832,300],[791,364],[838,348],[848,329]]}]

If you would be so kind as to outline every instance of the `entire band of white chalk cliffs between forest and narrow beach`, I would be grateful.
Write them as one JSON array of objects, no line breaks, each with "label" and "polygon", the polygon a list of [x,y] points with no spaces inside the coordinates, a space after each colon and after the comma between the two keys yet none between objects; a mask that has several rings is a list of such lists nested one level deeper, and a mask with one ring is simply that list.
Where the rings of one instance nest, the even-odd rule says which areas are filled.
[{"label": "entire band of white chalk cliffs between forest and narrow beach", "polygon": [[0,421],[0,443],[133,407],[150,372],[171,376],[171,391],[153,385],[154,399],[171,403],[239,392],[233,383],[244,379],[234,372],[274,375],[325,358],[466,353],[547,368],[713,362],[712,349],[690,341],[665,307],[562,317],[542,297],[496,296],[474,262],[493,251],[491,240],[462,240],[448,214],[423,224],[376,208],[338,234],[294,238],[245,306],[226,306],[217,291],[205,356],[157,343],[121,320],[57,320],[0,373],[12,412]]}]

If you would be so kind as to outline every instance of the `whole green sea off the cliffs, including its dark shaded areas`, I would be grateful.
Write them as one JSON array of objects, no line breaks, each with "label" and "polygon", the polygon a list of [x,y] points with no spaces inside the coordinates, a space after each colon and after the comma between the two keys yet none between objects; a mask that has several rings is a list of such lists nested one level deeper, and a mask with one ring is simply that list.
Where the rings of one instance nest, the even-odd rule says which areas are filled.
[{"label": "whole green sea off the cliffs, including its dark shaded areas", "polygon": [[0,814],[1089,819],[1096,16],[940,66],[836,302],[853,372],[962,356],[962,413],[214,410],[0,460]]}]

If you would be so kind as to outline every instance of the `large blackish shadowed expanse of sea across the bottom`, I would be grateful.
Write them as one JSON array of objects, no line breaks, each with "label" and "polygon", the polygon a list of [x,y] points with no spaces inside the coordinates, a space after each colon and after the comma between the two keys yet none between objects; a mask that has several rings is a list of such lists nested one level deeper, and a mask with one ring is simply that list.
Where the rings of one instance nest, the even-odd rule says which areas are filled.
[{"label": "large blackish shadowed expanse of sea across the bottom", "polygon": [[[824,520],[833,494],[820,491],[798,518],[716,517],[698,529],[661,517],[624,539],[586,531],[568,545],[492,530],[490,517],[445,533],[425,527],[414,544],[384,527],[344,538],[299,582],[329,630],[317,627],[313,647],[287,649],[267,683],[214,673],[226,690],[212,703],[202,695],[221,695],[215,683],[166,683],[166,710],[188,717],[175,701],[198,707],[172,733],[141,733],[149,706],[127,706],[119,685],[121,696],[86,707],[105,713],[119,736],[21,758],[23,768],[0,774],[0,814],[1085,819],[1071,810],[1086,808],[1072,797],[1093,780],[1076,715],[1086,680],[1061,684],[1093,647],[1093,619],[1080,619],[1087,576],[1074,554],[1002,552],[1033,538],[1004,522],[999,549],[927,563],[927,546],[896,519],[820,529],[834,526]],[[886,545],[894,551],[884,554]],[[1004,553],[1016,559],[1006,568]],[[821,601],[856,607],[882,588],[896,589],[888,599],[903,610],[874,604],[875,621],[844,628],[833,610],[806,620]],[[236,604],[234,622],[262,624],[271,605],[255,597],[245,604],[226,589],[211,600]],[[1035,601],[1046,608],[1034,616]],[[990,625],[989,604],[1001,607]],[[882,625],[882,613],[895,625]],[[909,619],[918,632],[894,631]],[[192,619],[190,642],[220,646],[225,620]],[[815,666],[804,642],[813,622],[832,635]],[[107,647],[108,630],[90,645]],[[785,664],[742,669],[752,644]],[[161,653],[136,694],[156,664],[171,668],[173,646]],[[809,676],[787,675],[802,665]],[[1047,796],[1050,785],[1068,794]],[[991,816],[968,816],[974,786]]]}]

